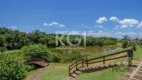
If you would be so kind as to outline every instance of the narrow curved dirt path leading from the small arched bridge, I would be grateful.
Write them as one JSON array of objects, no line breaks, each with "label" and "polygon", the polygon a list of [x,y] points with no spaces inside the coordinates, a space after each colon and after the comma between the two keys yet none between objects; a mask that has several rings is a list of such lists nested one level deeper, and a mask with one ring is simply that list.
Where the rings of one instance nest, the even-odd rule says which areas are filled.
[{"label": "narrow curved dirt path leading from the small arched bridge", "polygon": [[35,72],[34,74],[28,76],[25,78],[25,80],[39,80],[40,76],[49,69],[50,67],[47,66],[45,68],[41,68],[40,70],[38,70],[37,72]]}]

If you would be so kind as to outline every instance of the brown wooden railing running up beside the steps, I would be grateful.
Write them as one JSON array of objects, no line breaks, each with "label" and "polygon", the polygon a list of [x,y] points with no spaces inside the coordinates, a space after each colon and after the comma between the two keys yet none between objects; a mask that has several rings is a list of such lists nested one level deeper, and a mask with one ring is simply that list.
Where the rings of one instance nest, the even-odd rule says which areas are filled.
[{"label": "brown wooden railing running up beside the steps", "polygon": [[[131,57],[130,55],[131,55],[131,53],[133,55],[133,51],[130,53],[129,52],[130,50],[132,51],[132,49],[128,49],[128,50],[123,50],[123,51],[120,51],[120,52],[104,55],[104,56],[97,57],[97,58],[92,58],[92,59],[87,59],[86,58],[86,59],[77,60],[76,62],[74,62],[73,64],[71,64],[69,66],[69,75],[71,76],[71,73],[72,73],[73,70],[78,70],[78,68],[84,67],[85,66],[84,64],[86,64],[86,66],[89,67],[89,64],[100,63],[100,62],[103,62],[103,64],[105,64],[106,61],[120,59],[120,58],[124,58],[124,57]],[[118,54],[123,54],[123,53],[125,53],[125,54],[122,55],[122,56],[106,59],[107,57],[111,57],[111,56],[118,55]],[[101,60],[96,61],[98,59],[101,59]],[[131,61],[128,61],[128,63],[131,63]]]}]

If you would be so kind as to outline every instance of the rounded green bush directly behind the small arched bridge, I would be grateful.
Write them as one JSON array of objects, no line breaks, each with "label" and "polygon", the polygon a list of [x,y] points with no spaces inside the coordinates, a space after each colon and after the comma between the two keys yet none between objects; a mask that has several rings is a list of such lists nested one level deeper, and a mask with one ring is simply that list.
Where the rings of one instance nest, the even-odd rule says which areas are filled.
[{"label": "rounded green bush directly behind the small arched bridge", "polygon": [[47,49],[45,45],[34,44],[34,45],[24,46],[22,48],[22,51],[24,52],[24,57],[27,60],[30,60],[32,58],[40,58],[45,61],[52,61],[51,52]]}]

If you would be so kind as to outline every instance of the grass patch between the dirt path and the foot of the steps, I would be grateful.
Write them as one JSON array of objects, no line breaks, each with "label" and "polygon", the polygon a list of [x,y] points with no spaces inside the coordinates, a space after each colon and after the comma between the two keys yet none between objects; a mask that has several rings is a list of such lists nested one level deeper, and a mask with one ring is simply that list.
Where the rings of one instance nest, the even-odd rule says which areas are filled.
[{"label": "grass patch between the dirt path and the foot of the steps", "polygon": [[68,65],[68,63],[51,63],[51,68],[41,76],[40,80],[64,80],[68,76]]}]

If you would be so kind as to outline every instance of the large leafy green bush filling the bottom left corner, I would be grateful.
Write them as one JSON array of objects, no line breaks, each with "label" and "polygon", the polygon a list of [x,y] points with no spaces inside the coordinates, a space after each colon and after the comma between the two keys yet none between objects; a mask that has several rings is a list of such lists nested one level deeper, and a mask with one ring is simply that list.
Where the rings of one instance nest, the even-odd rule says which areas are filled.
[{"label": "large leafy green bush filling the bottom left corner", "polygon": [[27,72],[23,60],[9,54],[0,54],[0,80],[22,80]]}]

